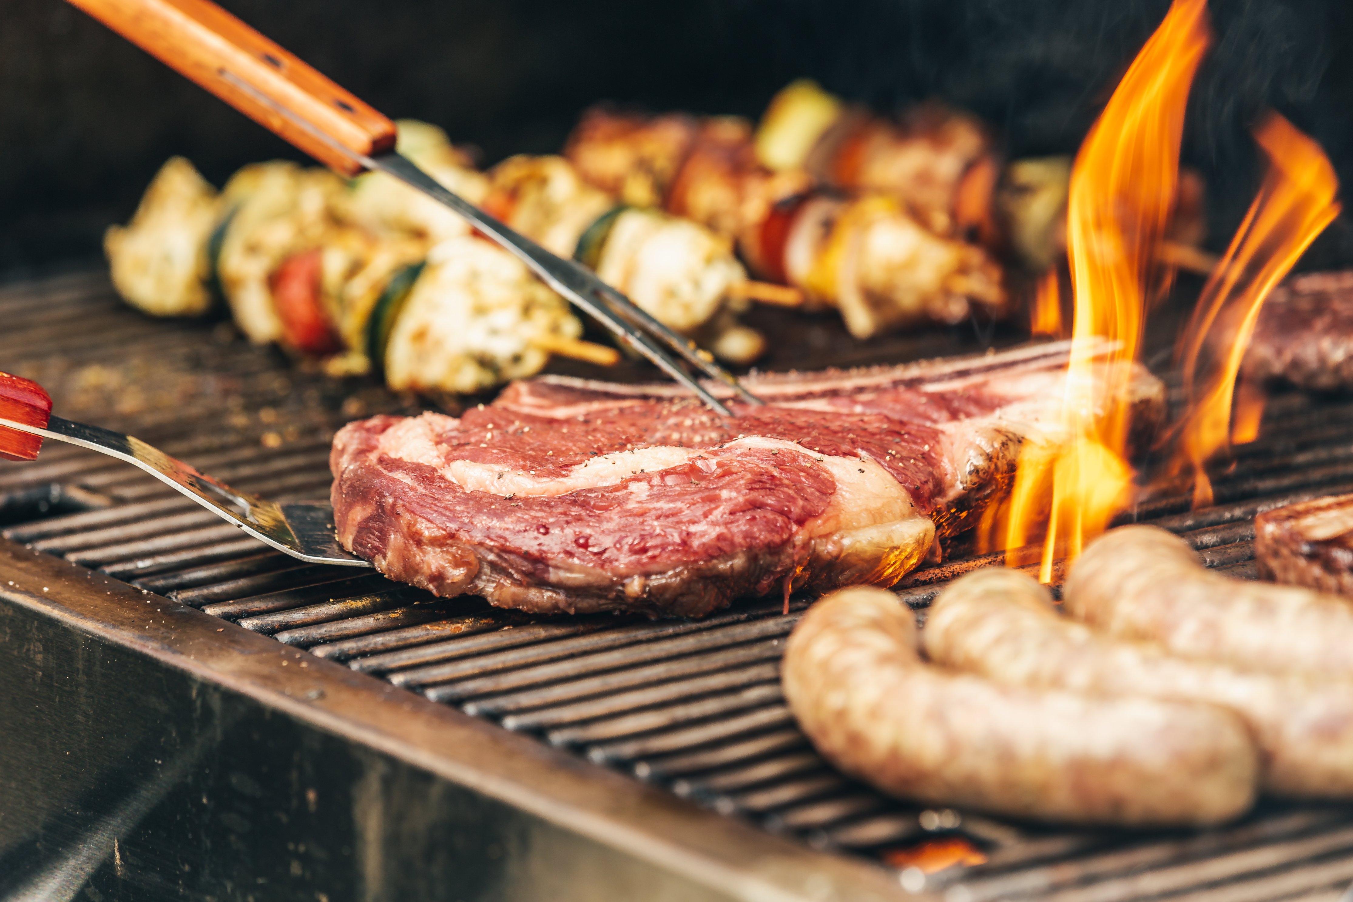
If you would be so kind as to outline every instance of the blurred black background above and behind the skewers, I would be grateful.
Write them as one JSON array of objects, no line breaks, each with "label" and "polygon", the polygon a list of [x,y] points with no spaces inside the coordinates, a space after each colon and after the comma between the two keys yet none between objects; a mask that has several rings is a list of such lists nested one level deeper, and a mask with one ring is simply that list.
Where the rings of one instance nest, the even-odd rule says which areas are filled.
[{"label": "blurred black background above and behind the skewers", "polygon": [[[819,78],[892,110],[938,96],[1013,156],[1074,151],[1168,0],[226,0],[391,116],[445,127],[483,161],[557,150],[601,99],[758,115]],[[1353,180],[1353,3],[1214,0],[1185,161],[1224,246],[1257,184],[1247,135],[1275,107]],[[99,254],[158,165],[221,184],[288,146],[60,0],[0,0],[0,276]],[[1353,262],[1337,223],[1303,268]]]}]

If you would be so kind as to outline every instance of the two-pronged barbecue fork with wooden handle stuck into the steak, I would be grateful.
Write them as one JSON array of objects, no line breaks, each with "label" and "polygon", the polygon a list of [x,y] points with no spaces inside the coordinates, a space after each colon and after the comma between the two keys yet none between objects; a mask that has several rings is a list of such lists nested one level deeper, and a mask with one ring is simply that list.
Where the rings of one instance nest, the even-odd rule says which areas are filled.
[{"label": "two-pronged barbecue fork with wooden handle stuck into the steak", "polygon": [[364,170],[384,172],[446,204],[720,414],[731,415],[681,360],[744,402],[762,403],[695,342],[658,322],[579,264],[518,235],[400,157],[394,149],[394,122],[214,3],[69,3],[330,169],[349,177]]}]

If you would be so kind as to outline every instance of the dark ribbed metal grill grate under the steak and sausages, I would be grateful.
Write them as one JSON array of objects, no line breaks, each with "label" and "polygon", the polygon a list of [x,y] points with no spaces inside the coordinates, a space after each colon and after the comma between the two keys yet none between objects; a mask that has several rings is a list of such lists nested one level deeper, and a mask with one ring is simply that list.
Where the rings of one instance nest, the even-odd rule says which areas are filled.
[{"label": "dark ribbed metal grill grate under the steak and sausages", "polygon": [[[342,422],[417,407],[367,380],[288,365],[226,323],[152,322],[123,307],[101,273],[11,285],[0,316],[12,325],[0,335],[4,368],[46,385],[62,415],[131,431],[279,500],[327,495],[329,440]],[[843,358],[825,321],[808,329],[817,330],[808,346],[823,354],[815,365],[921,349],[893,339]],[[931,353],[973,343],[959,333],[921,341]],[[1187,498],[1164,498],[1131,518],[1184,536],[1208,567],[1253,579],[1256,513],[1353,491],[1350,412],[1344,398],[1279,395],[1262,438],[1215,481],[1215,507],[1189,511]],[[702,817],[789,840],[819,856],[813,863],[865,863],[897,895],[1334,902],[1353,882],[1349,806],[1265,799],[1208,832],[1068,830],[923,809],[852,782],[813,752],[779,691],[783,644],[809,598],[796,596],[787,615],[778,600],[744,602],[702,621],[656,622],[533,619],[479,599],[438,600],[377,575],[299,564],[139,471],[69,446],[0,465],[0,522],[8,542],[130,584],[142,602],[219,618],[222,641],[239,630],[272,637],[287,664],[344,664],[400,698],[421,694],[561,749],[586,774],[618,771],[710,813]],[[923,611],[947,580],[997,560],[919,571],[897,594]],[[950,863],[946,848],[967,855]],[[774,898],[832,898],[823,886],[808,880],[801,895]]]}]

